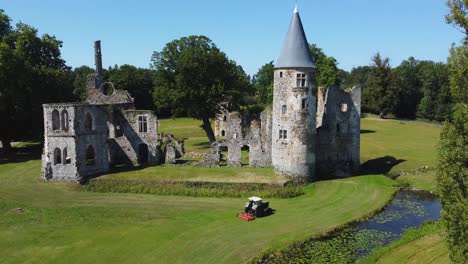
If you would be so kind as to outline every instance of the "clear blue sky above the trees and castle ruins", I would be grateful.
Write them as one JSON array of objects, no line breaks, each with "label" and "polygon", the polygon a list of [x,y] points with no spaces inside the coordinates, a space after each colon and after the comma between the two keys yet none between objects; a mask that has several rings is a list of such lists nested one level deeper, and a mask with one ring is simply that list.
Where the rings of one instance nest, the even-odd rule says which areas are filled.
[{"label": "clear blue sky above the trees and castle ruins", "polygon": [[[153,51],[176,38],[210,37],[231,59],[255,73],[276,60],[295,0],[0,0],[16,23],[62,40],[73,67],[93,67],[93,41],[102,40],[103,64],[148,67]],[[339,67],[369,65],[379,51],[393,66],[414,56],[445,61],[462,34],[447,25],[445,0],[299,0],[310,43]]]}]

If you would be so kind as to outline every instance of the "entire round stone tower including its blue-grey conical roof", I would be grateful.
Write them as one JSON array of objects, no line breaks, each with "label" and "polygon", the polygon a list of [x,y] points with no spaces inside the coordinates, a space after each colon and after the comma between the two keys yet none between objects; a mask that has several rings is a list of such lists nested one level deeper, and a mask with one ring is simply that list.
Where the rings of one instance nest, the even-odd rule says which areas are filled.
[{"label": "entire round stone tower including its blue-grey conical roof", "polygon": [[315,64],[297,8],[275,64],[272,166],[294,181],[315,177]]}]

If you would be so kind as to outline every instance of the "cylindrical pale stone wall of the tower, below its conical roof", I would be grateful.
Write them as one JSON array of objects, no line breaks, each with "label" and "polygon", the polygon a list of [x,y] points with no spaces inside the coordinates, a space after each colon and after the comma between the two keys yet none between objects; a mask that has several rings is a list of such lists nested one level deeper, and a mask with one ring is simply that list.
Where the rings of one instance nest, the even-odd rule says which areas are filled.
[{"label": "cylindrical pale stone wall of the tower, below its conical roof", "polygon": [[[305,87],[297,87],[297,74],[306,74]],[[276,69],[274,73],[272,165],[295,181],[309,181],[315,175],[315,83],[314,69]],[[281,136],[284,131],[286,138]]]}]

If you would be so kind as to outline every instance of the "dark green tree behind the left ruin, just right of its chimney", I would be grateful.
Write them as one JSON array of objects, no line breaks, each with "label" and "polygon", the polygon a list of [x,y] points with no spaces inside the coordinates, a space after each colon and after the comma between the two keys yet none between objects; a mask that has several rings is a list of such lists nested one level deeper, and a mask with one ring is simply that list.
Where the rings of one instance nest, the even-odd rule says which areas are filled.
[{"label": "dark green tree behind the left ruin, just right of its chimney", "polygon": [[135,98],[136,109],[154,109],[152,70],[125,64],[110,70],[108,80]]}]

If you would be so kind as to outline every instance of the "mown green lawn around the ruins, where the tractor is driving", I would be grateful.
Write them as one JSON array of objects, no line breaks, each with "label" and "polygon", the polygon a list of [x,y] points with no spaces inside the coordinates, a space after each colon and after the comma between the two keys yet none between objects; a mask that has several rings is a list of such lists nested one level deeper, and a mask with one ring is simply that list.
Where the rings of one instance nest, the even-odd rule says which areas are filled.
[{"label": "mown green lawn around the ruins, where the tractor is driving", "polygon": [[[186,137],[190,151],[207,149],[199,121],[160,124],[162,131]],[[436,127],[363,119],[362,129],[375,131],[362,134],[363,162],[405,160],[383,159],[389,171],[434,164]],[[0,159],[0,263],[240,263],[372,214],[395,191],[395,182],[382,175],[316,182],[303,196],[270,200],[272,216],[245,222],[235,217],[244,198],[82,192],[74,184],[39,180],[39,158]],[[165,166],[114,176],[274,178],[268,169],[183,170]]]}]

